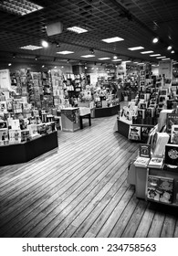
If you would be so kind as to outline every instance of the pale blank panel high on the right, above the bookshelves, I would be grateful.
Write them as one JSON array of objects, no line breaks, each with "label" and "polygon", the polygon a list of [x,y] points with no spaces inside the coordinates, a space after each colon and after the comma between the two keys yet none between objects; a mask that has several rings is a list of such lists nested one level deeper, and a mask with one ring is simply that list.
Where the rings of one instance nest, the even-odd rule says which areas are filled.
[{"label": "pale blank panel high on the right, above the bookshelves", "polygon": [[159,75],[167,80],[173,79],[173,61],[171,59],[159,62]]}]

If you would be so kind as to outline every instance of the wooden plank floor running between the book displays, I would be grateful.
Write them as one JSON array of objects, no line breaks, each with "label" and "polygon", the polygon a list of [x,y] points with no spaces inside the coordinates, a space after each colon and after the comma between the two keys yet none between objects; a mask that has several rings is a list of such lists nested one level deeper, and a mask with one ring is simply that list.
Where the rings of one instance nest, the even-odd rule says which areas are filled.
[{"label": "wooden plank floor running between the book displays", "polygon": [[138,144],[115,122],[58,131],[57,149],[0,167],[0,237],[178,237],[177,208],[138,199],[127,184]]}]

